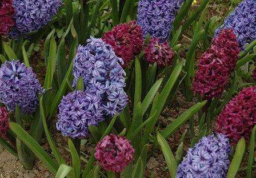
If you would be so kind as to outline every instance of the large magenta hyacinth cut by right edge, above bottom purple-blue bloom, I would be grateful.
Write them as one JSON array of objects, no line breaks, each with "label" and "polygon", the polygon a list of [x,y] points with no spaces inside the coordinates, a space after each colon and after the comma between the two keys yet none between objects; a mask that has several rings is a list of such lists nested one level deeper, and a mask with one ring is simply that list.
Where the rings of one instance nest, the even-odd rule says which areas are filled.
[{"label": "large magenta hyacinth cut by right edge, above bottom purple-blue bloom", "polygon": [[223,108],[216,121],[216,130],[225,134],[235,144],[241,137],[248,139],[255,124],[256,87],[248,87]]}]

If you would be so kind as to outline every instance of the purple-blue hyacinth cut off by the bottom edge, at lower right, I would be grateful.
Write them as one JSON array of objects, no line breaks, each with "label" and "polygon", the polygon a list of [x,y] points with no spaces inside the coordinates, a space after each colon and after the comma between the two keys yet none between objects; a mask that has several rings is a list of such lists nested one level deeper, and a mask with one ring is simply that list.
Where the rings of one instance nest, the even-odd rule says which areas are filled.
[{"label": "purple-blue hyacinth cut off by the bottom edge, at lower right", "polygon": [[176,177],[225,178],[230,164],[230,150],[229,139],[222,134],[202,137],[179,164]]}]

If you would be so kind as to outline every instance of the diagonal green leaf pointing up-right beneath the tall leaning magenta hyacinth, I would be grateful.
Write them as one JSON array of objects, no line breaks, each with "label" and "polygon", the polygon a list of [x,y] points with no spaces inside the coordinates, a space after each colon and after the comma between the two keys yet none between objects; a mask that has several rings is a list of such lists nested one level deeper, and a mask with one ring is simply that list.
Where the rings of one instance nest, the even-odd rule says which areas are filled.
[{"label": "diagonal green leaf pointing up-right beneath the tall leaning magenta hyacinth", "polygon": [[194,106],[190,107],[187,111],[183,112],[182,115],[178,116],[172,123],[170,123],[162,132],[161,135],[167,139],[174,131],[176,131],[179,127],[182,126],[189,118],[197,114],[200,111],[207,101],[203,101],[201,103],[197,103]]}]

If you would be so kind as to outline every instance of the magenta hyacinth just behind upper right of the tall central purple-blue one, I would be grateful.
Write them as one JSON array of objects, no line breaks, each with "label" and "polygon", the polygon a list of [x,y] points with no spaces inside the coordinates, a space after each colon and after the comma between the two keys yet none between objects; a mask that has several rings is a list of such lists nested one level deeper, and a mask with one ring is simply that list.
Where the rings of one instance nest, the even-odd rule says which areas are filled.
[{"label": "magenta hyacinth just behind upper right of the tall central purple-blue one", "polygon": [[127,66],[142,50],[142,30],[135,21],[131,21],[115,26],[103,35],[102,41],[112,46],[115,54],[122,58],[124,66]]}]

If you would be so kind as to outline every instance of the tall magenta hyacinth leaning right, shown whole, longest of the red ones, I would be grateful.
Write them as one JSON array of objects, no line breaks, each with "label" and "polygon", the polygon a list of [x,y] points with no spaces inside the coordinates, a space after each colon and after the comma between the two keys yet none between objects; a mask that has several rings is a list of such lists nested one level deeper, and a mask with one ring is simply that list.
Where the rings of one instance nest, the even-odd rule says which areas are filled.
[{"label": "tall magenta hyacinth leaning right, shown whole, longest of the red ones", "polygon": [[203,99],[221,96],[237,64],[239,51],[233,30],[222,30],[201,56],[194,80],[194,92]]}]

